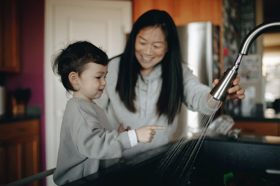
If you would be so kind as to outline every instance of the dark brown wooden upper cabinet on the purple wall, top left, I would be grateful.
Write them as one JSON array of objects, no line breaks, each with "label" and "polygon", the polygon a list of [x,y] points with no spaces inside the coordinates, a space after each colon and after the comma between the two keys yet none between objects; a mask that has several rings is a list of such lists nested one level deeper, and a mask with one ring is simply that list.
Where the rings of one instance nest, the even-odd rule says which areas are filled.
[{"label": "dark brown wooden upper cabinet on the purple wall, top left", "polygon": [[0,0],[0,72],[20,70],[19,0]]}]

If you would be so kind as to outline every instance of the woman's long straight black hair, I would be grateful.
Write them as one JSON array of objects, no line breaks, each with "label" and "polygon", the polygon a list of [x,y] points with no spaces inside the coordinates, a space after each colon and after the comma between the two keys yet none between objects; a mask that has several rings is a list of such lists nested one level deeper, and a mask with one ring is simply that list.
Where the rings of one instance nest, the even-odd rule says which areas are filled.
[{"label": "woman's long straight black hair", "polygon": [[162,29],[168,48],[160,62],[162,67],[162,87],[156,104],[157,114],[158,116],[166,114],[168,123],[172,123],[180,111],[184,87],[178,33],[174,21],[166,11],[147,11],[133,24],[124,53],[121,55],[116,91],[126,108],[135,113],[135,86],[142,68],[135,57],[135,39],[141,29],[151,26]]}]

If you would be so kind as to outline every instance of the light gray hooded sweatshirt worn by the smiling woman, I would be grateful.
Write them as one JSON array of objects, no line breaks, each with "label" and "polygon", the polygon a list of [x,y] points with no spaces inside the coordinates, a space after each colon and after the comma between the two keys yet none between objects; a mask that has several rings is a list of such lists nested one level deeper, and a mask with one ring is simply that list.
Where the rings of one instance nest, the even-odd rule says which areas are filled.
[{"label": "light gray hooded sweatshirt worn by the smiling woman", "polygon": [[[110,61],[108,66],[107,85],[101,98],[95,100],[101,108],[106,109],[107,117],[113,129],[118,129],[119,123],[124,122],[124,128],[131,126],[131,129],[138,129],[141,126],[161,125],[164,130],[156,130],[156,135],[151,143],[139,143],[136,147],[124,150],[123,157],[130,158],[147,150],[167,144],[171,141],[176,130],[178,116],[174,122],[168,125],[166,115],[158,117],[156,113],[156,103],[161,91],[161,65],[157,65],[147,77],[138,75],[135,87],[136,100],[134,102],[136,113],[130,112],[119,98],[115,91],[120,57]],[[207,108],[206,97],[211,88],[199,82],[192,71],[183,64],[184,76],[184,104],[192,111],[202,112]],[[109,101],[110,100],[110,101]],[[183,131],[182,131],[183,132]]]}]

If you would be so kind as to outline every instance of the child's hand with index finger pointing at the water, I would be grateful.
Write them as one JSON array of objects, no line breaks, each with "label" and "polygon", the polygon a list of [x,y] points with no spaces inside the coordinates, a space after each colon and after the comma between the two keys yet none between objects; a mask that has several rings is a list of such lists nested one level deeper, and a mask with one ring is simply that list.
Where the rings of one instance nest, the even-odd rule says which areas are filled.
[{"label": "child's hand with index finger pointing at the water", "polygon": [[152,139],[154,139],[154,135],[156,134],[156,129],[164,129],[164,126],[142,126],[135,130],[137,141],[142,143],[150,143]]}]

